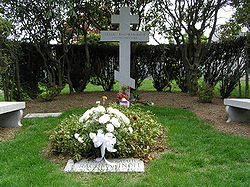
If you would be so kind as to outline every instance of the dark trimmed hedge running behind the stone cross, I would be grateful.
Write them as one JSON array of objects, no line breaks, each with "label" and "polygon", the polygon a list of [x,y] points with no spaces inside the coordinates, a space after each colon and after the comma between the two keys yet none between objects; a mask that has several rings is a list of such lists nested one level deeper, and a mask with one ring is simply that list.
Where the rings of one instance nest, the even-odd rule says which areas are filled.
[{"label": "dark trimmed hedge running behind the stone cross", "polygon": [[[221,82],[222,97],[230,95],[245,72],[246,40],[246,37],[241,37],[235,41],[212,44],[204,62],[198,68],[208,85],[214,86]],[[50,74],[55,80],[53,82],[55,85],[71,83],[75,91],[84,90],[90,81],[101,85],[106,91],[111,90],[115,83],[114,71],[119,69],[119,46],[88,45],[89,65],[86,62],[85,47],[84,45],[50,45],[47,48],[40,46],[41,52],[50,50],[50,53],[59,59],[48,60],[46,65],[44,59],[49,59],[48,55],[42,56],[32,44],[22,43],[22,56],[18,62],[22,95],[37,97],[39,84],[48,83]],[[138,88],[149,76],[152,76],[154,87],[158,91],[171,86],[172,80],[176,81],[183,92],[188,91],[185,84],[186,69],[175,45],[132,45],[131,77],[135,79],[136,87]]]}]

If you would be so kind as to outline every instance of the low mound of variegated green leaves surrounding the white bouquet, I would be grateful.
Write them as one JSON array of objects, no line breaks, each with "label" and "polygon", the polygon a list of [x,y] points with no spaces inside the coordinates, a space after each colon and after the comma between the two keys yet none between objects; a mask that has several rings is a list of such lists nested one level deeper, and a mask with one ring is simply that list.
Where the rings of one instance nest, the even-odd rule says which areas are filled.
[{"label": "low mound of variegated green leaves surrounding the white bouquet", "polygon": [[[115,127],[112,130],[112,134],[116,137],[116,144],[114,145],[116,151],[107,154],[107,157],[144,158],[146,154],[153,150],[157,141],[164,138],[164,129],[152,113],[144,112],[140,108],[127,108],[117,104],[106,107],[106,111],[110,108],[119,110],[127,116],[130,123],[121,122],[119,128]],[[95,107],[88,111],[99,109]],[[88,111],[82,117],[72,115],[66,118],[54,129],[50,136],[53,151],[68,155],[74,160],[100,157],[100,150],[94,147],[92,136],[96,137],[100,128],[102,128],[104,134],[110,132],[106,130],[108,129],[106,123],[100,124],[98,120],[94,120],[96,114]],[[83,118],[86,118],[86,113],[89,116],[87,117],[88,120],[85,121]],[[100,119],[100,117],[98,116],[97,119]]]}]

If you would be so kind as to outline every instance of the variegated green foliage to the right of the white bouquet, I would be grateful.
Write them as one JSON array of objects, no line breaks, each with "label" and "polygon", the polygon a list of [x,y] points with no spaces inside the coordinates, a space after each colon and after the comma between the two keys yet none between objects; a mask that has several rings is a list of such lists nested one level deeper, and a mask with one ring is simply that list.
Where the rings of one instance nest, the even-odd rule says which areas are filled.
[{"label": "variegated green foliage to the right of the white bouquet", "polygon": [[[115,105],[129,117],[134,132],[130,137],[123,137],[117,143],[117,152],[121,157],[144,157],[153,151],[159,139],[164,138],[165,129],[157,122],[150,111],[143,111],[139,107],[123,107]],[[159,144],[158,144],[159,146]]]}]

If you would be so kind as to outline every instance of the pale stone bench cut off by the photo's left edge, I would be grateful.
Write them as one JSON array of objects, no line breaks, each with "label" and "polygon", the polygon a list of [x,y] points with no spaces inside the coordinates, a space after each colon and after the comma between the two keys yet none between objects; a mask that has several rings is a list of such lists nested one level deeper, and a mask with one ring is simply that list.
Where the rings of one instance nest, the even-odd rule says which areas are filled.
[{"label": "pale stone bench cut off by the photo's left edge", "polygon": [[0,127],[22,126],[21,118],[24,108],[25,102],[0,102]]}]

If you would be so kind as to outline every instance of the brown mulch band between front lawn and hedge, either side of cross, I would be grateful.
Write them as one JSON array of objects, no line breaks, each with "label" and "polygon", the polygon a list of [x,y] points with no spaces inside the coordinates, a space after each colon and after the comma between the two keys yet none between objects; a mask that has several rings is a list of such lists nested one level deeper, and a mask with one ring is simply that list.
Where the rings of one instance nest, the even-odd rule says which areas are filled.
[{"label": "brown mulch band between front lawn and hedge, either side of cross", "polygon": [[[59,95],[51,102],[42,102],[38,99],[30,100],[26,101],[24,114],[63,112],[71,108],[93,106],[95,102],[101,100],[101,97],[104,95],[108,97],[107,103],[111,103],[115,101],[115,94],[116,92],[84,92],[71,95]],[[213,103],[199,103],[197,102],[197,97],[190,96],[186,93],[152,91],[140,91],[140,98],[143,101],[153,102],[156,106],[191,110],[200,119],[212,122],[218,131],[250,138],[249,123],[226,123],[227,114],[225,112],[223,99],[221,98],[214,98]],[[0,129],[0,142],[6,139],[5,134],[9,134],[10,132],[11,129]],[[8,135],[7,139],[10,137]]]}]

